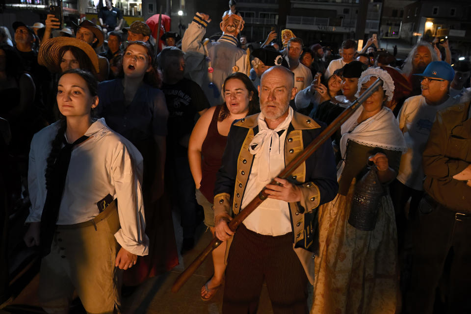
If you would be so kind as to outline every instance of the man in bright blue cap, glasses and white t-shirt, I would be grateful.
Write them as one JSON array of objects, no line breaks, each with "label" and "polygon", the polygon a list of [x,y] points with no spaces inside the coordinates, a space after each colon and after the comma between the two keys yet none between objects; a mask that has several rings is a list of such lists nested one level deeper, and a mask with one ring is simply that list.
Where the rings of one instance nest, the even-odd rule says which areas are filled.
[{"label": "man in bright blue cap, glasses and white t-shirt", "polygon": [[453,68],[444,61],[430,62],[420,77],[422,94],[408,98],[397,116],[404,134],[407,151],[402,154],[399,174],[392,184],[392,200],[396,211],[399,247],[405,228],[404,208],[410,197],[409,219],[414,218],[423,194],[422,153],[432,129],[437,111],[456,103],[449,96],[449,86],[454,77]]}]

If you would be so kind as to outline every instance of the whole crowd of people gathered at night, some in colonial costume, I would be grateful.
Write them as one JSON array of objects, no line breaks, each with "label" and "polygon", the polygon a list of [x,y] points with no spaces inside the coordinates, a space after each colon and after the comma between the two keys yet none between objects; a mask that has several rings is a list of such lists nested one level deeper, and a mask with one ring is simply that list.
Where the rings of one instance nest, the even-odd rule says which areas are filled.
[{"label": "whole crowd of people gathered at night, some in colonial costume", "polygon": [[[225,314],[256,313],[263,283],[274,313],[470,313],[469,60],[453,60],[447,41],[397,60],[376,35],[361,51],[338,43],[337,58],[289,29],[250,42],[229,6],[211,36],[205,13],[183,38],[123,27],[110,0],[100,25],[62,27],[49,14],[13,23],[13,38],[0,27],[2,303],[8,219],[22,199],[48,313],[67,312],[74,291],[88,313],[119,311],[122,284],[175,267],[172,209],[182,254],[203,220],[223,241],[201,299],[223,290]],[[365,189],[373,205],[358,205]],[[371,228],[355,225],[358,206],[373,210]]]}]

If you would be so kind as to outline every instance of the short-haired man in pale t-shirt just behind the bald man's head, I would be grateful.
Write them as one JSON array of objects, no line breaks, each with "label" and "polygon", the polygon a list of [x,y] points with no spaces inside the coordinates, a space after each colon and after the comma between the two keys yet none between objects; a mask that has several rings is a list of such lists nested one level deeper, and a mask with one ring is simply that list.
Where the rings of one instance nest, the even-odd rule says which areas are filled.
[{"label": "short-haired man in pale t-shirt just behind the bald man's head", "polygon": [[311,70],[299,62],[299,57],[303,52],[303,40],[293,37],[288,41],[288,64],[289,70],[294,73],[294,87],[296,93],[310,86],[313,81]]}]

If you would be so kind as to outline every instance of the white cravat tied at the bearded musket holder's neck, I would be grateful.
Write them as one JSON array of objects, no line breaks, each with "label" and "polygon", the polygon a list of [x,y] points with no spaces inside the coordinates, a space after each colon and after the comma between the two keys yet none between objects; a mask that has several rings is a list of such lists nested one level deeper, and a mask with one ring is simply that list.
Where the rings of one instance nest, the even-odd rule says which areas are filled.
[{"label": "white cravat tied at the bearded musket holder's neck", "polygon": [[280,136],[278,135],[278,131],[287,130],[292,119],[293,108],[289,107],[286,119],[280,123],[276,129],[272,130],[268,128],[265,122],[265,115],[262,112],[259,114],[259,132],[254,136],[252,142],[250,142],[249,152],[250,154],[257,155],[257,157],[261,157],[262,160],[266,161],[266,167],[261,167],[259,169],[259,177],[262,181],[270,179],[270,156],[280,155],[283,153],[280,148]]}]

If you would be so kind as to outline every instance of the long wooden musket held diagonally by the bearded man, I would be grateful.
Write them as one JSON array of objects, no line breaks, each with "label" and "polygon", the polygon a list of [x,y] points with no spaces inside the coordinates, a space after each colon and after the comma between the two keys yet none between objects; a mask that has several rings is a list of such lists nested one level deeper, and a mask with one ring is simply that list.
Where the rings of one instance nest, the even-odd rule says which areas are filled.
[{"label": "long wooden musket held diagonally by the bearded man", "polygon": [[[355,112],[355,110],[368,99],[371,94],[374,93],[377,87],[381,85],[381,79],[376,79],[374,83],[368,87],[368,89],[354,101],[351,105],[345,108],[340,116],[337,117],[324,131],[322,131],[312,142],[309,144],[304,151],[302,151],[297,157],[291,160],[290,163],[283,169],[279,174],[278,178],[287,179],[289,175],[306,159],[311,156],[332,134],[340,128],[340,126]],[[272,180],[270,184],[278,184]],[[265,193],[265,187],[243,210],[239,212],[230,222],[229,228],[235,232],[240,223],[247,218],[262,202],[268,197]],[[198,255],[198,257],[178,276],[175,283],[172,286],[172,292],[178,292],[185,282],[191,277],[191,275],[198,269],[198,267],[206,260],[212,250],[217,248],[222,243],[217,237],[214,237],[206,249]]]}]

